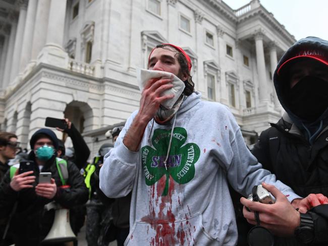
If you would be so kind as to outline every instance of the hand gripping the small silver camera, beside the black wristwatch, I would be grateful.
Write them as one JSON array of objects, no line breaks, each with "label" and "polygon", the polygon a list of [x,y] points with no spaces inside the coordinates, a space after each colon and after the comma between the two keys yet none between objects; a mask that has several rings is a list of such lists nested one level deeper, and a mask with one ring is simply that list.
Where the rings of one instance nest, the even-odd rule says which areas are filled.
[{"label": "hand gripping the small silver camera, beside the black wristwatch", "polygon": [[[271,186],[264,182],[262,186],[276,198],[276,203],[262,204],[249,201],[246,198],[241,198],[240,202],[244,205],[244,217],[250,224],[256,225],[253,211],[258,211],[261,226],[269,229],[276,235],[293,235],[296,227],[300,224],[299,212],[294,209],[286,196],[275,186]],[[247,211],[245,207],[249,208],[251,212]]]}]

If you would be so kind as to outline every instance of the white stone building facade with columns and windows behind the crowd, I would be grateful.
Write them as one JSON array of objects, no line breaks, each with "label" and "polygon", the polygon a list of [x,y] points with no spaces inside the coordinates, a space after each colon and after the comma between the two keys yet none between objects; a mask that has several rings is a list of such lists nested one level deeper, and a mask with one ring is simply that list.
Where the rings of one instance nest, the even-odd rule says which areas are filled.
[{"label": "white stone building facade with columns and windows behind the crowd", "polygon": [[170,42],[192,58],[203,100],[228,105],[252,143],[282,114],[271,77],[295,41],[259,0],[0,0],[1,129],[27,146],[45,117],[69,117],[95,153],[96,129],[138,108],[136,68]]}]

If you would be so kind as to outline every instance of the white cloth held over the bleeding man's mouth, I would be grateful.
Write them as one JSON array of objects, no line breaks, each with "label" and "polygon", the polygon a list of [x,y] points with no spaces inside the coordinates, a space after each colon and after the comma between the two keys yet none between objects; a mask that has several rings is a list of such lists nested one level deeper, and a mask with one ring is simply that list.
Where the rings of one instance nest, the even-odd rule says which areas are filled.
[{"label": "white cloth held over the bleeding man's mouth", "polygon": [[183,90],[185,89],[185,83],[182,80],[180,80],[177,76],[169,72],[137,68],[137,81],[140,91],[143,90],[147,81],[150,79],[154,79],[154,78],[169,79],[171,78],[171,76],[173,76],[173,81],[172,81],[173,87],[169,90],[162,92],[161,94],[161,96],[174,94],[173,98],[166,100],[161,104],[163,107],[168,109],[171,109],[173,105],[177,102],[179,97],[181,96]]}]

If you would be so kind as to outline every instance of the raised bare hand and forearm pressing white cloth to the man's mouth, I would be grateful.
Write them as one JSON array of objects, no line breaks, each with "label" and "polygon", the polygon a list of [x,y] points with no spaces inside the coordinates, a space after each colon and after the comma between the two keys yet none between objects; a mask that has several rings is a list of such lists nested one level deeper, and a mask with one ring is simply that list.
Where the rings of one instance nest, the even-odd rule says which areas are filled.
[{"label": "raised bare hand and forearm pressing white cloth to the man's mouth", "polygon": [[148,122],[155,116],[159,105],[174,97],[174,95],[161,96],[161,93],[173,87],[173,76],[169,79],[148,80],[141,93],[140,109],[125,134],[123,144],[131,151],[137,151]]}]

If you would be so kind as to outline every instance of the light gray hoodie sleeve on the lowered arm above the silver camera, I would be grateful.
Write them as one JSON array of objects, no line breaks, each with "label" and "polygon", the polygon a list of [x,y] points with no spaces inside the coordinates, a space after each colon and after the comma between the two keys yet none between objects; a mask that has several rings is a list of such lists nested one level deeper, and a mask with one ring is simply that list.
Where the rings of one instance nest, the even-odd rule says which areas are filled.
[{"label": "light gray hoodie sleeve on the lowered arm above the silver camera", "polygon": [[230,140],[233,154],[231,162],[227,167],[227,175],[234,190],[247,197],[251,194],[254,186],[261,184],[261,182],[266,182],[274,185],[285,194],[290,202],[296,198],[300,198],[290,187],[277,180],[275,174],[262,168],[262,165],[247,148],[240,127],[237,125],[232,114],[230,115],[230,120],[234,131],[231,133]]}]

